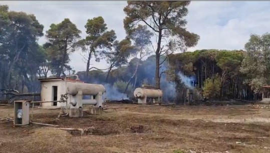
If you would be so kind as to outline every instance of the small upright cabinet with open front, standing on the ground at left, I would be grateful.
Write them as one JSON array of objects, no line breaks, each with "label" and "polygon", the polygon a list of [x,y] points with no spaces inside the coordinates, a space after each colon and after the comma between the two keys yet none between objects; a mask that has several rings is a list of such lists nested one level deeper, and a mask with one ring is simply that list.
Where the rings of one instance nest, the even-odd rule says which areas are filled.
[{"label": "small upright cabinet with open front, standing on the ground at left", "polygon": [[31,101],[14,101],[14,125],[22,126],[29,124],[29,105]]}]

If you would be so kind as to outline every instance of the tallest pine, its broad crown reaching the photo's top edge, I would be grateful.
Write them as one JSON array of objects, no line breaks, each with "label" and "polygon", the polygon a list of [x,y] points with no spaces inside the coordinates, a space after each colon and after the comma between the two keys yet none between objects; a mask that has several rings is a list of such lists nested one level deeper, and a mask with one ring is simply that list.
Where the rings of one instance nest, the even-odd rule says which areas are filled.
[{"label": "tallest pine, its broad crown reaching the photo's top edge", "polygon": [[[189,1],[128,1],[124,8],[127,17],[124,19],[124,28],[127,33],[132,32],[138,23],[146,24],[157,35],[156,88],[160,89],[160,56],[169,54],[176,48],[195,46],[199,36],[185,29],[186,20],[183,19],[188,11]],[[169,39],[165,43],[162,40]]]}]

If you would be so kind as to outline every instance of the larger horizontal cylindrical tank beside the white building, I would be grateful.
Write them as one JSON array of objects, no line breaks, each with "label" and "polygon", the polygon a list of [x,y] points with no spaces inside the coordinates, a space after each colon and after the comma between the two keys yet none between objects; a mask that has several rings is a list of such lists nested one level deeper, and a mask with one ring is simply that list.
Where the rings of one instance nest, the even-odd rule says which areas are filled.
[{"label": "larger horizontal cylindrical tank beside the white building", "polygon": [[99,92],[105,92],[102,84],[89,84],[82,82],[66,82],[66,92],[70,95],[76,95],[78,91],[82,91],[83,95],[97,95]]}]

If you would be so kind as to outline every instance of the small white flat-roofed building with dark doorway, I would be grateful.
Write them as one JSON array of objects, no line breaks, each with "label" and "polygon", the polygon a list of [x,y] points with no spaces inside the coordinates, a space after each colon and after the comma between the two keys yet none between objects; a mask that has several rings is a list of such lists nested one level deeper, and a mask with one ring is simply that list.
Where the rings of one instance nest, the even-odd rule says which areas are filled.
[{"label": "small white flat-roofed building with dark doorway", "polygon": [[[62,94],[66,93],[66,83],[63,78],[39,79],[41,82],[41,101],[59,101]],[[79,80],[67,79],[69,82],[83,82]],[[70,98],[69,98],[70,99]],[[68,99],[68,101],[69,101]],[[63,102],[45,102],[42,107],[65,107]]]}]

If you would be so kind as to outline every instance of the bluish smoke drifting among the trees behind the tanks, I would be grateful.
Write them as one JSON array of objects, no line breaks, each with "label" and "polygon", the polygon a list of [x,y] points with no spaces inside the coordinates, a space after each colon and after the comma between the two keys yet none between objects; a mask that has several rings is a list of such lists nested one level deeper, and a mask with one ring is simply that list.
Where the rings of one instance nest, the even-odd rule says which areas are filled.
[{"label": "bluish smoke drifting among the trees behind the tanks", "polygon": [[[155,85],[155,58],[153,56],[150,56],[148,59],[146,59],[141,71],[138,71],[138,74],[141,79],[147,79],[149,85]],[[167,70],[167,63],[164,62],[161,65],[160,72]],[[179,72],[177,76],[180,78],[180,80],[183,82],[185,86],[187,86],[190,89],[193,89],[194,83],[196,81],[195,77],[187,77],[183,73]],[[99,78],[92,78],[85,79],[84,77],[80,77],[82,81],[85,81],[86,83],[94,83],[94,84],[102,84],[105,87],[106,92],[103,94],[104,99],[109,100],[122,100],[122,99],[129,99],[127,94],[121,93],[116,87],[113,86],[113,83],[105,83],[104,81],[99,80]],[[95,81],[93,81],[93,79]],[[137,82],[136,88],[141,87],[142,82]],[[172,81],[167,81],[166,74],[163,73],[160,78],[160,88],[163,91],[163,101],[175,101],[176,98],[176,84]]]}]

